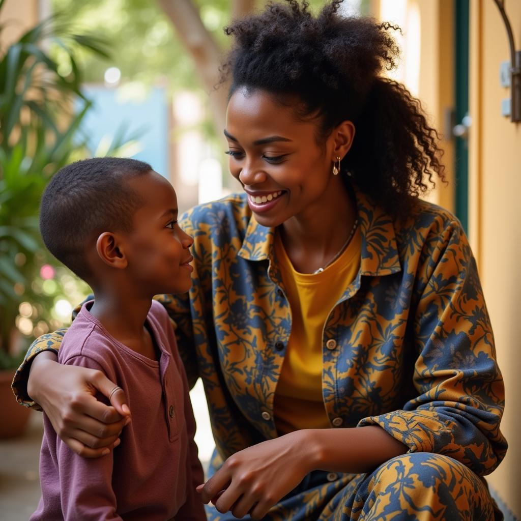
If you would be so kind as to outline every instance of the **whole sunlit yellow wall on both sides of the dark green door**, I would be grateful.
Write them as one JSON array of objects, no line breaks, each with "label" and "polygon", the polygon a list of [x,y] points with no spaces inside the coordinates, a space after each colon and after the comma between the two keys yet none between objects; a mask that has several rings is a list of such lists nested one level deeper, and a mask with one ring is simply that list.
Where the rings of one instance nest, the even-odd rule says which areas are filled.
[{"label": "whole sunlit yellow wall on both sides of the dark green door", "polygon": [[[377,18],[395,21],[404,30],[405,38],[399,41],[402,64],[395,79],[420,98],[442,133],[447,130],[445,109],[454,103],[454,1],[458,0],[374,0],[372,4]],[[506,0],[505,5],[516,48],[521,49],[521,1]],[[419,53],[410,52],[411,45],[419,45]],[[470,0],[469,239],[505,380],[501,428],[510,442],[504,462],[488,480],[521,518],[521,443],[517,441],[521,431],[521,278],[516,269],[521,259],[521,123],[515,125],[500,112],[501,100],[510,95],[499,83],[499,67],[507,59],[506,32],[495,3]],[[452,180],[452,140],[444,139],[441,145]],[[454,210],[453,192],[451,183],[432,192],[429,199]]]}]

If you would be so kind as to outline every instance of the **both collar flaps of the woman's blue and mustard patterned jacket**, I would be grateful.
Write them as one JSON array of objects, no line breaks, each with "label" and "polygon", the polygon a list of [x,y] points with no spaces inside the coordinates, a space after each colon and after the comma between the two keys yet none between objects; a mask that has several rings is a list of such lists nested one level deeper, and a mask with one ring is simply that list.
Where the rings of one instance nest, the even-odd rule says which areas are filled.
[{"label": "both collar flaps of the woman's blue and mustard patterned jacket", "polygon": [[[362,233],[361,275],[381,276],[401,271],[394,220],[370,197],[354,189],[358,226]],[[246,203],[247,204],[247,203]],[[252,214],[238,252],[249,261],[265,261],[273,254],[275,228],[258,224]]]}]

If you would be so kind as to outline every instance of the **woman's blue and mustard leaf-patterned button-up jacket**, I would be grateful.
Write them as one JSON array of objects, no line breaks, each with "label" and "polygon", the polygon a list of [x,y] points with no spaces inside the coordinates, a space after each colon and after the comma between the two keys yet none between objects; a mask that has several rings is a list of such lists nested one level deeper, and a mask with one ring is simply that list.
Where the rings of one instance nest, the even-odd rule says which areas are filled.
[{"label": "woman's blue and mustard leaf-patterned button-up jacket", "polygon": [[[504,387],[475,260],[458,220],[418,202],[391,218],[357,192],[361,267],[322,334],[322,395],[331,427],[376,424],[410,451],[449,455],[478,475],[506,452]],[[158,299],[175,322],[191,386],[204,382],[221,458],[277,436],[274,395],[291,309],[274,229],[245,194],[197,206],[180,221],[194,238],[193,288]],[[61,331],[31,346],[56,349]],[[26,405],[31,405],[26,402]]]}]

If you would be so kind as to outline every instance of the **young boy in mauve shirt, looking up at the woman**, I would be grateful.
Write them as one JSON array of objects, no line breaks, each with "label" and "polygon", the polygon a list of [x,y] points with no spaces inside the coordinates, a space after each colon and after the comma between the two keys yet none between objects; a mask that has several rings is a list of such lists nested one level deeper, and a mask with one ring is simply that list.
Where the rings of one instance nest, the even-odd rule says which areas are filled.
[{"label": "young boy in mauve shirt, looking up at the woman", "polygon": [[45,245],[95,295],[65,334],[58,359],[103,371],[125,390],[132,420],[117,450],[86,459],[44,418],[42,498],[32,521],[206,519],[195,491],[203,471],[187,378],[168,315],[152,301],[192,285],[193,240],[177,225],[177,212],[170,183],[133,159],[73,163],[45,190]]}]

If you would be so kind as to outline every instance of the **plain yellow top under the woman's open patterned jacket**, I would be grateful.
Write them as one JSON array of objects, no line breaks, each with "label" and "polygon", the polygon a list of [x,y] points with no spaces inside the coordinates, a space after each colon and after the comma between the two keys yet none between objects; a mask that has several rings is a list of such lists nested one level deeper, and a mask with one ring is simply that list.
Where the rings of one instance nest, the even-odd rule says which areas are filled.
[{"label": "plain yellow top under the woman's open patterned jacket", "polygon": [[280,434],[329,428],[322,398],[322,330],[360,266],[359,227],[340,257],[313,275],[295,271],[279,234],[275,253],[291,308],[291,334],[275,391],[274,416]]}]

